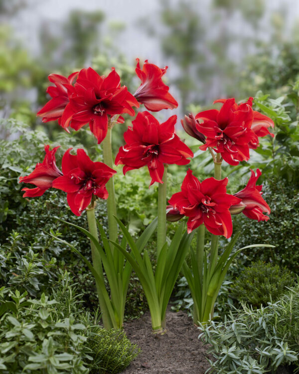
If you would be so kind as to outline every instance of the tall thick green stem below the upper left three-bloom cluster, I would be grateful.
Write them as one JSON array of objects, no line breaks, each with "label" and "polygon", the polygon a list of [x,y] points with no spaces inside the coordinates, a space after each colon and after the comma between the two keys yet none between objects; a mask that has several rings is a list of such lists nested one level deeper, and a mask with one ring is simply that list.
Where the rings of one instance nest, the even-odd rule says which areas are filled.
[{"label": "tall thick green stem below the upper left three-bloom cluster", "polygon": [[[110,121],[108,124],[108,132],[106,138],[103,140],[103,157],[104,163],[109,166],[109,168],[113,168],[113,159],[112,159],[112,143],[111,143],[111,133],[112,128],[110,127]],[[117,241],[117,223],[115,218],[113,217],[116,214],[116,202],[115,202],[115,190],[114,190],[114,177],[110,178],[110,180],[106,184],[107,191],[109,193],[107,199],[107,211],[108,211],[108,231],[109,231],[109,239],[113,241]],[[111,251],[113,252],[113,246],[111,246]]]}]

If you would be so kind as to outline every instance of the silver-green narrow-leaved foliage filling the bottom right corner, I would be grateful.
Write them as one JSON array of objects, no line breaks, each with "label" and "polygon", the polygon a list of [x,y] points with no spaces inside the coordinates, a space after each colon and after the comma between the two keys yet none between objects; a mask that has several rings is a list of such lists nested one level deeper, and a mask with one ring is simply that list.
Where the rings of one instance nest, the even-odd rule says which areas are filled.
[{"label": "silver-green narrow-leaved foliage filling the bottom right corner", "polygon": [[210,373],[271,373],[280,365],[299,372],[299,286],[276,303],[253,310],[243,305],[224,322],[201,326],[199,338],[211,345]]}]

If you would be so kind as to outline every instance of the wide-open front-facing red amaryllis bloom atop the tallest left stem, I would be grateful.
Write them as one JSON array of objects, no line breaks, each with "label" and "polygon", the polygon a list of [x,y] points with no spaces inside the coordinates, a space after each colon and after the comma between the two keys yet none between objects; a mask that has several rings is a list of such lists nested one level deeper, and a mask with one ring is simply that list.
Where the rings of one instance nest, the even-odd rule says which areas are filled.
[{"label": "wide-open front-facing red amaryllis bloom atop the tallest left stem", "polygon": [[[105,78],[89,67],[79,72],[75,92],[70,95],[61,126],[71,126],[77,131],[89,123],[91,132],[100,144],[107,134],[108,116],[122,113],[134,116],[133,106],[138,108],[139,103],[126,86],[121,86],[120,76],[114,68]],[[123,117],[118,122],[124,122]]]}]

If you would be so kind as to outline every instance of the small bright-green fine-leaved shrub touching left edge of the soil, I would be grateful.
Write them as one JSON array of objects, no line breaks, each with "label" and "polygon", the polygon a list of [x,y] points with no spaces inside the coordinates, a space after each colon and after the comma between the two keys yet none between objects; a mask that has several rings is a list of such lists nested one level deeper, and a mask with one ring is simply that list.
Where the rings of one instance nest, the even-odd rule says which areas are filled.
[{"label": "small bright-green fine-leaved shrub touching left edge of the soil", "polygon": [[92,350],[92,373],[121,373],[140,353],[124,331],[105,330],[99,326],[91,330],[86,344]]}]

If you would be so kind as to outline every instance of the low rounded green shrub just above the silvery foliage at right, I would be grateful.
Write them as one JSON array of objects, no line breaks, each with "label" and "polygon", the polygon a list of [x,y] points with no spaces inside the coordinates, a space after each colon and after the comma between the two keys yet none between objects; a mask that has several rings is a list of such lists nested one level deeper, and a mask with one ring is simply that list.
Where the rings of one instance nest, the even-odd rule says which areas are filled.
[{"label": "low rounded green shrub just above the silvery foliage at right", "polygon": [[260,260],[241,272],[234,280],[231,292],[237,300],[259,308],[271,300],[276,301],[286,293],[286,287],[292,287],[294,282],[290,271]]}]

